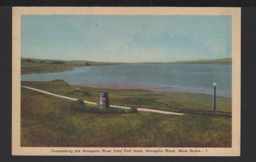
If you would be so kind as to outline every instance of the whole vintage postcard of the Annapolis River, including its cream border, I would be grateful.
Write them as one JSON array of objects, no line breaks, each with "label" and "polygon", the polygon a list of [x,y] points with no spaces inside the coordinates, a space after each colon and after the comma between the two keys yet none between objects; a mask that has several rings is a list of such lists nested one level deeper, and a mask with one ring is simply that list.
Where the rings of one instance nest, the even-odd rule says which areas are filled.
[{"label": "whole vintage postcard of the Annapolis River, including its cream border", "polygon": [[239,156],[241,9],[13,7],[12,155]]}]

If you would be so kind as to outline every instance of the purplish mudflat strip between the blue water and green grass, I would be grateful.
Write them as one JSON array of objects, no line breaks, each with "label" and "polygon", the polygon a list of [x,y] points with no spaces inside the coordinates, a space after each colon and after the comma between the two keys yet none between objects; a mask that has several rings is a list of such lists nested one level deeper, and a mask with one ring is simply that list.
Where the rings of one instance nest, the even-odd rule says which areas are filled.
[{"label": "purplish mudflat strip between the blue water and green grass", "polygon": [[[186,93],[202,93],[213,95],[213,91],[200,90],[191,88],[178,88],[164,85],[150,85],[150,84],[138,84],[138,83],[79,83],[69,84],[71,86],[79,87],[99,87],[99,88],[111,88],[111,89],[140,89],[148,91],[159,91],[159,92],[186,92]],[[216,92],[216,96],[232,98],[232,94],[229,92]]]}]

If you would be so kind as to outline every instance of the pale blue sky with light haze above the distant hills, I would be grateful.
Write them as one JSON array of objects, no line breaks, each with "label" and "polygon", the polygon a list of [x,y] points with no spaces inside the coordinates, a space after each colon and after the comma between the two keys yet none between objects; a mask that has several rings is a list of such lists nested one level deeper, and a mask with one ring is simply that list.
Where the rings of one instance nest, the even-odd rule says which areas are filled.
[{"label": "pale blue sky with light haze above the distant hills", "polygon": [[173,62],[231,57],[229,15],[21,15],[21,57]]}]

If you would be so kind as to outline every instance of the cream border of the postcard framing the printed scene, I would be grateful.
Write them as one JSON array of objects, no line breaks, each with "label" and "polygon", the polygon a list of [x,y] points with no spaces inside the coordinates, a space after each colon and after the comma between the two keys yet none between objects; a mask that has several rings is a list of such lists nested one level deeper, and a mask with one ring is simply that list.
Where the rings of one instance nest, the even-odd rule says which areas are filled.
[{"label": "cream border of the postcard framing the printed scene", "polygon": [[[20,17],[27,15],[232,15],[232,147],[231,148],[96,148],[20,147]],[[241,8],[227,7],[13,7],[12,8],[12,155],[54,156],[239,156],[241,95]],[[102,150],[111,152],[102,152]],[[165,150],[175,152],[165,152]],[[179,152],[187,150],[188,152]],[[192,149],[195,152],[190,152]],[[64,152],[55,152],[63,150]],[[69,152],[66,152],[69,150]],[[72,150],[72,153],[71,153]],[[80,150],[80,152],[75,152]],[[92,150],[96,152],[82,152]],[[114,150],[123,150],[122,153]],[[124,152],[131,150],[131,152]],[[143,152],[133,152],[142,150]],[[163,150],[163,152],[146,152]],[[197,152],[198,150],[204,152]],[[207,152],[205,151],[207,150]],[[100,152],[98,152],[100,151]]]}]

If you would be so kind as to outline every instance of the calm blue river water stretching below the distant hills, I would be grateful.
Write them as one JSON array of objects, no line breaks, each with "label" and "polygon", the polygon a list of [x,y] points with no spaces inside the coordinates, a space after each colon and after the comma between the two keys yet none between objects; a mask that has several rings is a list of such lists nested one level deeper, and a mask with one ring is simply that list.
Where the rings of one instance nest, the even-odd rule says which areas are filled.
[{"label": "calm blue river water stretching below the distant hills", "polygon": [[140,83],[180,88],[231,92],[231,65],[212,64],[124,64],[73,68],[71,71],[21,75],[21,81],[62,79],[77,83]]}]

